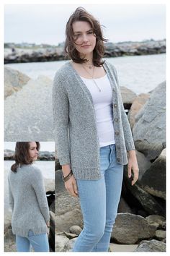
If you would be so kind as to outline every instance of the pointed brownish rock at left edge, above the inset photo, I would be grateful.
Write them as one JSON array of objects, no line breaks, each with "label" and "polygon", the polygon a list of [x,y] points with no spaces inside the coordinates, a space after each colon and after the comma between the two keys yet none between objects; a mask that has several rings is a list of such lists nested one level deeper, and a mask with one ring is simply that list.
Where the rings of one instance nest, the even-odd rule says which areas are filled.
[{"label": "pointed brownish rock at left edge, above the inset photo", "polygon": [[4,67],[4,98],[22,89],[30,80],[26,74],[18,70]]}]

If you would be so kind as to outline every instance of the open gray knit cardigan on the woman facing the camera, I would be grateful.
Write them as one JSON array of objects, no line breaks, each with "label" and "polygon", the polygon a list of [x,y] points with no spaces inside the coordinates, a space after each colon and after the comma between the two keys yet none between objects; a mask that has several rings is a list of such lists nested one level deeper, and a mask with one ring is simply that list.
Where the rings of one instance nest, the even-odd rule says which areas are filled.
[{"label": "open gray knit cardigan on the woman facing the camera", "polygon": [[[103,64],[112,87],[117,162],[128,163],[127,150],[135,150],[128,117],[122,103],[115,67]],[[75,179],[100,179],[100,150],[91,93],[73,69],[71,61],[53,80],[55,147],[61,165],[70,163]]]}]

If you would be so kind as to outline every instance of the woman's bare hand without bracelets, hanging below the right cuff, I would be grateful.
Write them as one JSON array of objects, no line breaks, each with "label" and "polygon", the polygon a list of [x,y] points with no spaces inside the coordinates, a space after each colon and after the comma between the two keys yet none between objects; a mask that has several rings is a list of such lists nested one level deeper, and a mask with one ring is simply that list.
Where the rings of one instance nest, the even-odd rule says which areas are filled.
[{"label": "woman's bare hand without bracelets, hanging below the right cuff", "polygon": [[132,176],[133,170],[133,181],[132,186],[137,182],[139,176],[138,162],[135,155],[135,150],[128,151],[128,177]]}]

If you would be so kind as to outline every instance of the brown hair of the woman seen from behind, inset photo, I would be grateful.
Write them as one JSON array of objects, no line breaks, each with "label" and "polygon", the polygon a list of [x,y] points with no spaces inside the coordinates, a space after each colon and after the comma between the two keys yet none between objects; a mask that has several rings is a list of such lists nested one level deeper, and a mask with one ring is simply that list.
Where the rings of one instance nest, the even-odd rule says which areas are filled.
[{"label": "brown hair of the woman seen from behind, inset photo", "polygon": [[[37,142],[37,150],[40,150],[40,142]],[[17,167],[23,164],[30,164],[33,161],[30,159],[29,155],[30,142],[16,142],[15,145],[15,153],[14,153],[14,161],[15,163],[12,165],[11,170],[17,172]]]}]

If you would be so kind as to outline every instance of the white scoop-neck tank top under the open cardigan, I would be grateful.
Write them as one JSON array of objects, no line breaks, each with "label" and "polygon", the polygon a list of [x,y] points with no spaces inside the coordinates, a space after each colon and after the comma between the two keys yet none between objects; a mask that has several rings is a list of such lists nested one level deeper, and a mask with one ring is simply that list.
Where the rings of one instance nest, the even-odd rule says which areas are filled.
[{"label": "white scoop-neck tank top under the open cardigan", "polygon": [[89,89],[93,98],[94,110],[97,122],[97,134],[99,137],[99,146],[104,147],[115,144],[115,132],[113,127],[113,111],[112,111],[112,89],[107,74],[104,77],[92,79],[81,77],[86,87]]}]

